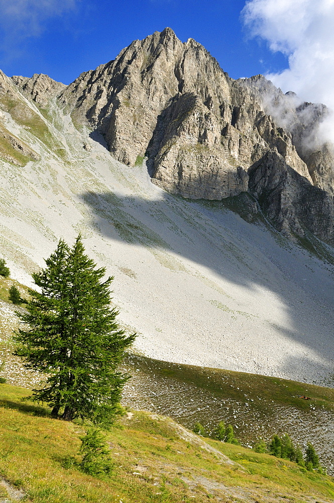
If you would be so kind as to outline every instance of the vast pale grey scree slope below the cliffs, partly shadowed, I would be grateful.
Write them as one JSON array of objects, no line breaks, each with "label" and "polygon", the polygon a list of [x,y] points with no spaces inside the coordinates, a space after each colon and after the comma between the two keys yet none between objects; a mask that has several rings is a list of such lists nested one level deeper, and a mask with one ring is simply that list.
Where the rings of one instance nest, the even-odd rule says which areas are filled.
[{"label": "vast pale grey scree slope below the cliffs, partly shadowed", "polygon": [[148,356],[317,383],[329,378],[331,265],[261,220],[251,224],[221,203],[163,192],[144,164],[114,160],[55,104],[51,122],[20,99],[57,145],[52,150],[7,116],[42,159],[24,170],[1,161],[1,250],[17,279],[29,282],[27,273],[43,266],[57,239],[72,241],[80,231],[88,253],[115,275],[121,320],[140,332],[137,348]]}]

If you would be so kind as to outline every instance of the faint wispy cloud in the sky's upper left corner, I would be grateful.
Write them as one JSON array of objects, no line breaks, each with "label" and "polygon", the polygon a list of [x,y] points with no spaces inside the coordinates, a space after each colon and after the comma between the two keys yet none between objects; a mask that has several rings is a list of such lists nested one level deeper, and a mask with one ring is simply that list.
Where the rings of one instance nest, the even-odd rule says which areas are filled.
[{"label": "faint wispy cloud in the sky's upper left corner", "polygon": [[38,37],[50,18],[72,10],[80,0],[0,0],[0,50],[11,59],[22,51],[22,42]]}]

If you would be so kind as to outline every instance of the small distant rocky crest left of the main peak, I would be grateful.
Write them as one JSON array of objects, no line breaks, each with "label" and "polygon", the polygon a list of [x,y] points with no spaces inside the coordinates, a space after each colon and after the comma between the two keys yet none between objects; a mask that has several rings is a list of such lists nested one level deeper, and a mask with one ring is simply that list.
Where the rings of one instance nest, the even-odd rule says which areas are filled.
[{"label": "small distant rocky crest left of the main peak", "polygon": [[50,99],[66,88],[65,84],[44,73],[34,73],[31,78],[13,75],[12,80],[26,98],[32,99],[41,108],[47,108]]}]

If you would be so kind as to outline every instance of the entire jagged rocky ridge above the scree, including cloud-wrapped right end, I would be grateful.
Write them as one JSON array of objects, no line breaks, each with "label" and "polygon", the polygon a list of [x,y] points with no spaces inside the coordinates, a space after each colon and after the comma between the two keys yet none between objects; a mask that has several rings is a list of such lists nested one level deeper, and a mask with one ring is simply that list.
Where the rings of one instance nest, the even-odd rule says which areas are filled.
[{"label": "entire jagged rocky ridge above the scree, including cloud-wrapped right end", "polygon": [[119,161],[145,156],[164,190],[216,200],[250,192],[279,231],[332,240],[332,147],[306,141],[324,106],[302,104],[262,76],[231,79],[203,46],[182,43],[170,28],[67,87],[48,79],[13,77],[40,106],[58,93],[64,113],[102,133]]}]

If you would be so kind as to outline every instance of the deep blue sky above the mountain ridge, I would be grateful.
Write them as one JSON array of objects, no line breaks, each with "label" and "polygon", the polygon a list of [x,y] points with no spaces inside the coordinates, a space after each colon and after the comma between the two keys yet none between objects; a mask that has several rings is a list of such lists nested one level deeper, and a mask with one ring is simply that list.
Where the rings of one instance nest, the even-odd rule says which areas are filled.
[{"label": "deep blue sky above the mountain ridge", "polygon": [[245,0],[0,0],[0,68],[66,84],[114,59],[134,39],[170,26],[194,38],[232,77],[278,72],[287,58],[240,19]]}]

